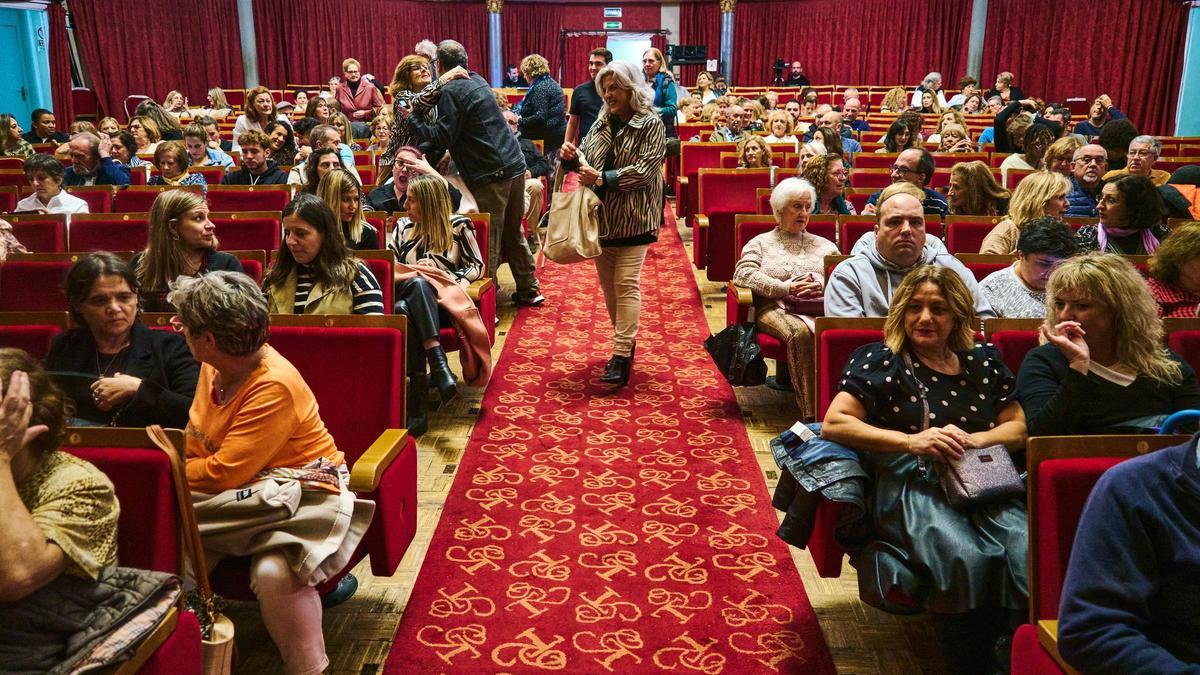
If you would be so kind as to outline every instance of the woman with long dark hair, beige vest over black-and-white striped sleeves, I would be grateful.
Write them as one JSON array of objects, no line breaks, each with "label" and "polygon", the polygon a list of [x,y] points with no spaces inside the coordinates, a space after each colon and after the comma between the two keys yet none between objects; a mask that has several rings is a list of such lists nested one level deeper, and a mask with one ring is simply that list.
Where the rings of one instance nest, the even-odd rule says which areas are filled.
[{"label": "woman with long dark hair, beige vest over black-and-white striped sleeves", "polygon": [[384,313],[379,282],[347,246],[334,210],[307,192],[283,209],[283,240],[263,293],[271,313]]}]

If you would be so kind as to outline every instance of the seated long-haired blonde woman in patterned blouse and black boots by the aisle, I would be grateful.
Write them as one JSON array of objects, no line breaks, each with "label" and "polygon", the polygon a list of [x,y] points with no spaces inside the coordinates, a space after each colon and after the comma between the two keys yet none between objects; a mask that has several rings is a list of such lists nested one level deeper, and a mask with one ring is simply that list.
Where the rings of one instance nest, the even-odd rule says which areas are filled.
[{"label": "seated long-haired blonde woman in patterned blouse and black boots by the aisle", "polygon": [[[470,219],[450,210],[450,192],[446,191],[444,180],[433,175],[419,175],[408,181],[407,192],[408,215],[396,221],[388,247],[396,253],[400,265],[426,268],[414,275],[410,270],[397,267],[392,280],[396,285],[395,311],[408,317],[410,330],[409,419],[418,423],[418,431],[422,431],[430,386],[438,392],[443,402],[449,402],[457,393],[457,377],[446,363],[446,354],[438,338],[439,330],[451,317],[439,309],[438,288],[427,275],[437,270],[443,281],[452,281],[466,288],[484,276],[484,256],[475,240],[475,227]],[[485,345],[484,350],[487,348]],[[409,432],[412,429],[410,423]]]}]

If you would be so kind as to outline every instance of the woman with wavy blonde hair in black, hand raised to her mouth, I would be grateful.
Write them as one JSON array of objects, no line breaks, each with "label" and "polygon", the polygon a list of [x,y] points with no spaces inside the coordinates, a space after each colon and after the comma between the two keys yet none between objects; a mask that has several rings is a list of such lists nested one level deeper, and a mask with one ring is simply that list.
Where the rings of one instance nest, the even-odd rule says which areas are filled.
[{"label": "woman with wavy blonde hair in black, hand raised to her mouth", "polygon": [[1163,347],[1158,303],[1121,256],[1075,256],[1050,275],[1042,338],[1016,381],[1031,436],[1145,432],[1200,407],[1195,372]]}]

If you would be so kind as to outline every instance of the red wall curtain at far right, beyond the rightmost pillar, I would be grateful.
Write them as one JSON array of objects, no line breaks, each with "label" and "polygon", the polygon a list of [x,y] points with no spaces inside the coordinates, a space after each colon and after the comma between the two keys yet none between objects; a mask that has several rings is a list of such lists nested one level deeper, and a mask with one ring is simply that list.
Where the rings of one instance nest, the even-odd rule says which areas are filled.
[{"label": "red wall curtain at far right, beyond the rightmost pillar", "polygon": [[1048,101],[1108,94],[1142,132],[1172,133],[1187,20],[1170,0],[991,0],[984,82],[1010,71]]}]

